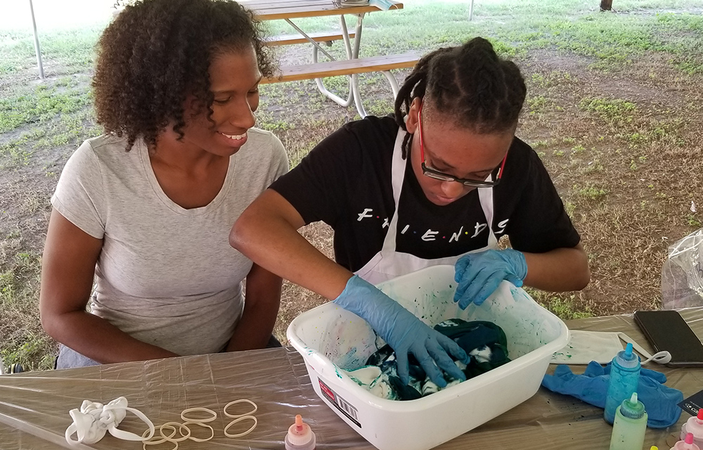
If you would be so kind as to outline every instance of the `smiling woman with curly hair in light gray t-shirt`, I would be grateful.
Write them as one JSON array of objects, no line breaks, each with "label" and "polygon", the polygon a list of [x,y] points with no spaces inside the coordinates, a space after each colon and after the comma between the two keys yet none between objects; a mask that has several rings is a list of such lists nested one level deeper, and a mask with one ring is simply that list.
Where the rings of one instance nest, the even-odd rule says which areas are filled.
[{"label": "smiling woman with curly hair in light gray t-shirt", "polygon": [[276,136],[253,128],[271,73],[233,1],[146,0],[105,29],[93,77],[105,134],[68,160],[44,248],[41,323],[65,346],[58,368],[269,342],[280,278],[228,233],[288,170]]}]

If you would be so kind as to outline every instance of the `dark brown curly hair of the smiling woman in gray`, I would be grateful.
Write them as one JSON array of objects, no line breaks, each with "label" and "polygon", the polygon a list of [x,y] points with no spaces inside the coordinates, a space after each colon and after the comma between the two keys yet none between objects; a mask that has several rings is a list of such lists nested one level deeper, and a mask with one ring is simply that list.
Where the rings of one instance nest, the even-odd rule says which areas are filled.
[{"label": "dark brown curly hair of the smiling woman in gray", "polygon": [[261,24],[228,0],[142,0],[125,6],[98,41],[96,116],[105,133],[140,136],[150,147],[174,123],[183,137],[183,102],[193,95],[212,115],[209,65],[223,51],[254,46],[264,77],[273,74]]}]

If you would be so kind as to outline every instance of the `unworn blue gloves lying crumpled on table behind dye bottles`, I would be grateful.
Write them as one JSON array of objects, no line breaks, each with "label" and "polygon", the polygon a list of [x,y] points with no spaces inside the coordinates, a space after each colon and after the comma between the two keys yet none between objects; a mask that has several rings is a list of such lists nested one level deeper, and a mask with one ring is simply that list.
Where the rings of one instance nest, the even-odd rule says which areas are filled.
[{"label": "unworn blue gloves lying crumpled on table behind dye bottles", "polygon": [[[550,391],[571,395],[603,409],[608,383],[610,363],[604,368],[595,361],[588,363],[583,375],[576,375],[569,366],[560,364],[555,368],[554,375],[544,375],[542,379],[542,385]],[[640,369],[637,399],[645,405],[649,428],[669,427],[681,416],[681,408],[676,405],[683,400],[683,393],[663,383],[666,383],[664,373]]]}]

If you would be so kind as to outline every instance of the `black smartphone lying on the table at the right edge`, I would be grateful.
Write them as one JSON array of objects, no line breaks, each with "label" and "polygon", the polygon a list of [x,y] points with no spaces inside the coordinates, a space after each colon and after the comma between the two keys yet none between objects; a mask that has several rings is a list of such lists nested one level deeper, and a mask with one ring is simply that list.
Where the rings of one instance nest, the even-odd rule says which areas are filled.
[{"label": "black smartphone lying on the table at the right edge", "polygon": [[634,319],[654,351],[671,353],[667,366],[703,367],[703,343],[678,311],[635,311]]}]

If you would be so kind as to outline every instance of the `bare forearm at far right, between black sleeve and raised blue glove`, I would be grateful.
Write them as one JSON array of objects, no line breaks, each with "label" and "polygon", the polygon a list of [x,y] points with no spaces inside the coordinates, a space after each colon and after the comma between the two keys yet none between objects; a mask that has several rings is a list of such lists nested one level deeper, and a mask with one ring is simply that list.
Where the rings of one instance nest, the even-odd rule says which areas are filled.
[{"label": "bare forearm at far right, between black sleeve and raised blue glove", "polygon": [[581,290],[591,281],[588,256],[579,243],[574,248],[556,248],[545,253],[523,253],[527,262],[524,284],[531,288],[564,292]]}]

